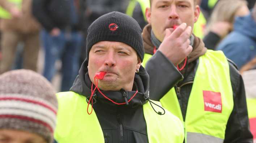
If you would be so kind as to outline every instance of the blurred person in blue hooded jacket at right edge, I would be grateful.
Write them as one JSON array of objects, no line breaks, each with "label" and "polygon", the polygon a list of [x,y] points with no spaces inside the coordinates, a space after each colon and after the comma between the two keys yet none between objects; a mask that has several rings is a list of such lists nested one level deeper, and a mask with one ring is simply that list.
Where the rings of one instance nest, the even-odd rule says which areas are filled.
[{"label": "blurred person in blue hooded jacket at right edge", "polygon": [[238,69],[256,56],[256,4],[251,13],[236,18],[234,31],[219,43],[217,50],[222,50]]}]

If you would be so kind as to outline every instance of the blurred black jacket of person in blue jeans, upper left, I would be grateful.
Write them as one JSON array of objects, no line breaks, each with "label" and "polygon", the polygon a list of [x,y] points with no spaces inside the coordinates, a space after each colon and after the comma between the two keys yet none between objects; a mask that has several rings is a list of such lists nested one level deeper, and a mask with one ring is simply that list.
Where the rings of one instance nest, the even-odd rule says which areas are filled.
[{"label": "blurred black jacket of person in blue jeans, upper left", "polygon": [[57,27],[59,29],[70,28],[71,30],[82,30],[85,2],[78,0],[79,6],[76,9],[78,18],[77,23],[71,23],[71,2],[73,0],[33,0],[32,13],[40,24],[47,30],[51,31]]}]

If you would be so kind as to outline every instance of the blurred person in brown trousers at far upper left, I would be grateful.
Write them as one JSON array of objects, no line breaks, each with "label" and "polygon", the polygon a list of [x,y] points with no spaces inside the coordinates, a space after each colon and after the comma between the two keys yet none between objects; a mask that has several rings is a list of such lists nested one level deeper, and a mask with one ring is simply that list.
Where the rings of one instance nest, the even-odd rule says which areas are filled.
[{"label": "blurred person in brown trousers at far upper left", "polygon": [[23,68],[37,71],[40,24],[31,14],[31,0],[1,0],[0,73],[12,69],[18,42],[24,42]]}]

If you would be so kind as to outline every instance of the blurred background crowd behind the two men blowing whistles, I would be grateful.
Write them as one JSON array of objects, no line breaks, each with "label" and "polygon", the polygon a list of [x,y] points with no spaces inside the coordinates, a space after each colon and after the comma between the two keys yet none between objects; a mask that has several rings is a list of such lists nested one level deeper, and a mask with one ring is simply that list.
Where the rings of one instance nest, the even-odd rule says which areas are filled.
[{"label": "blurred background crowd behind the two men blowing whistles", "polygon": [[[244,69],[256,55],[255,0],[197,0],[201,13],[193,32],[205,47],[222,50]],[[85,56],[87,28],[111,11],[125,13],[143,29],[147,0],[1,0],[0,73],[31,69],[49,81],[60,75],[59,91],[69,91]],[[242,48],[243,47],[243,48]],[[252,65],[250,68],[255,68]],[[246,66],[248,67],[248,66]]]}]

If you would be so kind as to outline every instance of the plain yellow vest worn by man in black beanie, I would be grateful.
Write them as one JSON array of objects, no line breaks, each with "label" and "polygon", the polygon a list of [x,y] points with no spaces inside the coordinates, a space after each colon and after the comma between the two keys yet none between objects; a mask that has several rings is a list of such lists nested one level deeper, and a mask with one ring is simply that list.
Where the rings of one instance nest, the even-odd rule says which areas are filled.
[{"label": "plain yellow vest worn by man in black beanie", "polygon": [[[60,92],[57,93],[57,99],[59,106],[54,138],[58,143],[104,143],[94,110],[91,115],[86,112],[85,96],[74,92]],[[153,102],[161,105],[160,102]],[[157,106],[154,108],[161,111]],[[168,111],[165,115],[158,115],[149,102],[143,105],[143,112],[149,143],[183,143],[184,128],[178,117]]]}]

